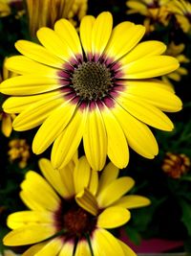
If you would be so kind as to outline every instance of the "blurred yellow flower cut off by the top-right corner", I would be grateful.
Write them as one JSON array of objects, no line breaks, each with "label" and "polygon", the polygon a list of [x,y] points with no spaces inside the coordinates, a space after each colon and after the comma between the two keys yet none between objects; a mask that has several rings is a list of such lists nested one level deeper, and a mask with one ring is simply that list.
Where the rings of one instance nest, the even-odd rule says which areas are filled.
[{"label": "blurred yellow flower cut off by the top-right corner", "polygon": [[171,0],[168,4],[169,12],[175,14],[177,22],[184,33],[191,32],[191,3],[185,0]]}]

